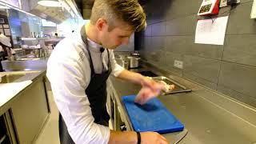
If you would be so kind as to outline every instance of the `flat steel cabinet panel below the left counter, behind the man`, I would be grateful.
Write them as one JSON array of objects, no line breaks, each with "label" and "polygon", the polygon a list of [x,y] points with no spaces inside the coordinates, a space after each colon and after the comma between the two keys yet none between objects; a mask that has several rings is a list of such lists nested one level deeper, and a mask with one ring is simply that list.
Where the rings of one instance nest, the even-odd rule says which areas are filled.
[{"label": "flat steel cabinet panel below the left counter, behind the man", "polygon": [[43,78],[38,78],[18,95],[11,108],[18,142],[33,143],[45,126],[50,108]]}]

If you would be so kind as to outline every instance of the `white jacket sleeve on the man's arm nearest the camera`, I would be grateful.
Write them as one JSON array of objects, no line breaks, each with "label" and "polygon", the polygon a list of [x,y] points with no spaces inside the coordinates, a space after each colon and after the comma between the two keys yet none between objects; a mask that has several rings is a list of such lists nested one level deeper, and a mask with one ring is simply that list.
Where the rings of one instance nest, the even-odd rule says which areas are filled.
[{"label": "white jacket sleeve on the man's arm nearest the camera", "polygon": [[89,62],[79,58],[59,58],[57,52],[51,56],[47,64],[47,78],[71,138],[77,144],[106,144],[110,129],[94,123],[85,93],[90,82]]}]

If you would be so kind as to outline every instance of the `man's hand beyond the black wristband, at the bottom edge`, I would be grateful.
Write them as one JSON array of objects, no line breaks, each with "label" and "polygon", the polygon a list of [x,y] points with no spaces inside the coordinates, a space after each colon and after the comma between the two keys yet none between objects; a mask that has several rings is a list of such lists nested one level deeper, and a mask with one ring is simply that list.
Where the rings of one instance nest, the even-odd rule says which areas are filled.
[{"label": "man's hand beyond the black wristband, at the bottom edge", "polygon": [[142,132],[141,138],[141,144],[168,144],[166,138],[156,132]]}]

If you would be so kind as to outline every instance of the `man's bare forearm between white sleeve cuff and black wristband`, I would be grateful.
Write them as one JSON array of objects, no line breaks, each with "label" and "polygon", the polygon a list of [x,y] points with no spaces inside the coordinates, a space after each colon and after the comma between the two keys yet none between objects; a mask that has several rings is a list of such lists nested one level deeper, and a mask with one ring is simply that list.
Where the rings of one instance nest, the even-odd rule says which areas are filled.
[{"label": "man's bare forearm between white sleeve cuff and black wristband", "polygon": [[137,144],[137,134],[133,131],[110,131],[108,144]]}]

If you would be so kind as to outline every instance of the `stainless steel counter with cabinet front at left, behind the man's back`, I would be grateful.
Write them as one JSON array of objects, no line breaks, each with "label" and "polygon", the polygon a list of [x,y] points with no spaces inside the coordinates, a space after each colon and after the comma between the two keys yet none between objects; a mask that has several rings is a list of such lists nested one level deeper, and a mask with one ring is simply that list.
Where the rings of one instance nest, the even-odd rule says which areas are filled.
[{"label": "stainless steel counter with cabinet front at left, behind the man's back", "polygon": [[[10,139],[14,143],[33,143],[49,119],[50,107],[46,93],[46,70],[42,71],[15,71],[2,72],[1,75],[10,75],[0,86],[9,90],[18,90],[16,93],[1,92],[0,112],[10,115],[11,123],[8,129],[12,131]],[[30,82],[23,87],[15,82]],[[0,89],[1,90],[1,89]],[[8,95],[7,95],[8,94]],[[8,99],[6,99],[8,97]]]}]

